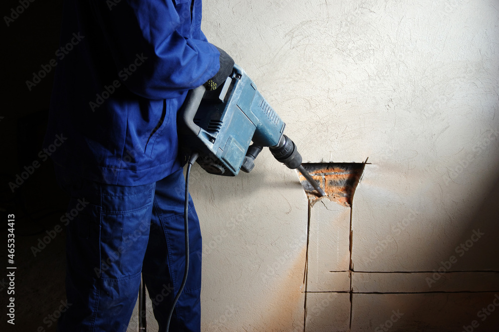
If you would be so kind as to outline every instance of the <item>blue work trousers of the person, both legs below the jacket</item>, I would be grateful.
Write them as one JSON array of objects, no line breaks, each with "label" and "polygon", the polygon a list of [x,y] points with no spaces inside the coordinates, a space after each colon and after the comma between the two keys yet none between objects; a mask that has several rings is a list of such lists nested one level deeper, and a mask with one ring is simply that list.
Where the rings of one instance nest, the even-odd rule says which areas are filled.
[{"label": "blue work trousers of the person, both legs below the jacket", "polygon": [[[59,172],[58,172],[59,173]],[[141,272],[160,331],[179,291],[185,268],[182,169],[161,181],[134,187],[84,179],[59,183],[71,194],[67,228],[68,309],[59,332],[124,332],[139,291]],[[170,331],[201,329],[201,231],[189,198],[190,263]]]}]

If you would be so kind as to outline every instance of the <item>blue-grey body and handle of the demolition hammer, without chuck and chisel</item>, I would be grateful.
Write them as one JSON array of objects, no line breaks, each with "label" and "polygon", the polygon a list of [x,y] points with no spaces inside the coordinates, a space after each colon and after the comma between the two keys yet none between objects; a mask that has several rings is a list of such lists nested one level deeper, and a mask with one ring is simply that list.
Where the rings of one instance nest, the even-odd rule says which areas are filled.
[{"label": "blue-grey body and handle of the demolition hammer, without chuck and chisel", "polygon": [[184,103],[179,131],[186,155],[198,152],[197,162],[207,172],[236,176],[251,141],[260,147],[279,143],[284,122],[238,65],[222,88],[198,89]]}]

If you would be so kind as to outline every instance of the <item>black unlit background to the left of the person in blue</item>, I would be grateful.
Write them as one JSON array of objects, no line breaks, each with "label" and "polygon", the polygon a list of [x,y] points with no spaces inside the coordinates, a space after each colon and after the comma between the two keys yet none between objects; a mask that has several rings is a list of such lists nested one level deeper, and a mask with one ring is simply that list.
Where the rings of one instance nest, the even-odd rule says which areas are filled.
[{"label": "black unlit background to the left of the person in blue", "polygon": [[[55,182],[50,159],[38,157],[54,68],[31,91],[26,80],[31,81],[33,72],[56,58],[63,1],[21,1],[29,6],[9,26],[4,16],[11,16],[11,8],[19,6],[19,0],[5,0],[0,5],[4,74],[0,107],[0,331],[55,331],[55,317],[65,301],[65,227],[60,217],[68,198]],[[40,167],[12,193],[9,182],[15,182],[16,174],[35,160]],[[13,265],[7,263],[7,214],[15,215]],[[14,295],[7,295],[6,266],[16,267]],[[6,323],[10,297],[14,297],[15,326]]]}]

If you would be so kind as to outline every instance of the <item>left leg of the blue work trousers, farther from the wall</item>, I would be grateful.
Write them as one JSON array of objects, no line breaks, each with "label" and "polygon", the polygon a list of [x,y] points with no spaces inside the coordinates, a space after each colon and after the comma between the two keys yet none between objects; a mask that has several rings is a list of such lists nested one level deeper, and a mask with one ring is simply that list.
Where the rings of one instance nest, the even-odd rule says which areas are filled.
[{"label": "left leg of the blue work trousers, farther from the wall", "polygon": [[126,331],[137,301],[153,193],[154,184],[84,183],[73,190],[72,201],[80,199],[86,206],[68,224],[66,291],[71,306],[59,331]]}]

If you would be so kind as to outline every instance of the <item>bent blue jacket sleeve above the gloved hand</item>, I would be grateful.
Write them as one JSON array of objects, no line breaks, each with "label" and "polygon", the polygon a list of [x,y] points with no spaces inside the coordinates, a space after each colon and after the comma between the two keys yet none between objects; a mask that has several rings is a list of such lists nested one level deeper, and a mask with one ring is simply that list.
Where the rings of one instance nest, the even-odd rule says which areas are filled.
[{"label": "bent blue jacket sleeve above the gloved hand", "polygon": [[130,91],[148,99],[178,97],[220,68],[217,48],[206,38],[189,38],[191,17],[179,15],[173,1],[121,0],[108,7],[109,1],[91,0],[119,78]]}]

